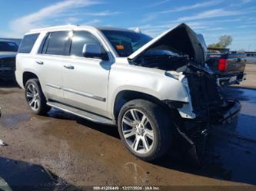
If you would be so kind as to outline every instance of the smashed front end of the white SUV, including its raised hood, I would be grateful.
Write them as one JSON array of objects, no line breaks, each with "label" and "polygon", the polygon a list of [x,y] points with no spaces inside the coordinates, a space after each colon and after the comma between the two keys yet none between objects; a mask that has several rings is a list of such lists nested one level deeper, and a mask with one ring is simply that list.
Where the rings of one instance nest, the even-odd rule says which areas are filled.
[{"label": "smashed front end of the white SUV, including its raised hood", "polygon": [[128,58],[130,64],[157,68],[181,81],[188,102],[163,101],[171,109],[178,110],[175,126],[193,146],[196,137],[205,137],[210,124],[230,121],[241,109],[238,100],[224,97],[211,69],[205,64],[206,49],[202,36],[181,24],[154,38]]}]

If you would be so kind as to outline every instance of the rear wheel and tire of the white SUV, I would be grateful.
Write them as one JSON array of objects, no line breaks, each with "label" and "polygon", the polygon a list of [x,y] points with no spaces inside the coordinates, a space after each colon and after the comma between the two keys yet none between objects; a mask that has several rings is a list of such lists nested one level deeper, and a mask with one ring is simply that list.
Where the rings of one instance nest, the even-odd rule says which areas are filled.
[{"label": "rear wheel and tire of the white SUV", "polygon": [[45,95],[42,93],[42,88],[38,79],[30,79],[25,84],[25,98],[28,107],[34,114],[45,115],[51,110],[46,104]]}]

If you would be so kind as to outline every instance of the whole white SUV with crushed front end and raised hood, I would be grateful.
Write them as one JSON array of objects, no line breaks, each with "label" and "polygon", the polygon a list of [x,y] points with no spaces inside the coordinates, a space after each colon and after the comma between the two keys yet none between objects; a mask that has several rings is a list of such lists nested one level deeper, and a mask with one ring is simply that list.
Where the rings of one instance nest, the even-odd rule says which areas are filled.
[{"label": "whole white SUV with crushed front end and raised hood", "polygon": [[35,114],[55,107],[117,125],[131,153],[155,160],[175,137],[196,148],[210,119],[226,120],[240,109],[222,97],[204,61],[204,43],[185,24],[154,39],[66,25],[25,34],[15,74]]}]

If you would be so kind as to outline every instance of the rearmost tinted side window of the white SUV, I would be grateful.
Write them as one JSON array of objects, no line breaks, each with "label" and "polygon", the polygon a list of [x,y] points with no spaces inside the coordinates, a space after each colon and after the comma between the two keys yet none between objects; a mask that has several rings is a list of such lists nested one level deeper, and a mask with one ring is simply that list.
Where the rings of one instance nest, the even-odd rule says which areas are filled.
[{"label": "rearmost tinted side window of the white SUV", "polygon": [[39,34],[25,35],[18,49],[19,53],[30,53]]}]

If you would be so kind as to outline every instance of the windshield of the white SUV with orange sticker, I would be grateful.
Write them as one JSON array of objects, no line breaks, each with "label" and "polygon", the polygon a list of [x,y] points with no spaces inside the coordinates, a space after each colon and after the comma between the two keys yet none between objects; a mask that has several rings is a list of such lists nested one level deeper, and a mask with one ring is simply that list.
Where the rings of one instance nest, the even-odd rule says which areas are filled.
[{"label": "windshield of the white SUV with orange sticker", "polygon": [[138,48],[141,48],[151,37],[135,31],[101,30],[117,51],[118,56],[128,57]]}]

